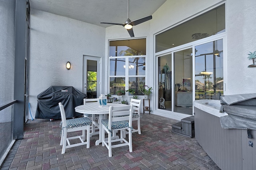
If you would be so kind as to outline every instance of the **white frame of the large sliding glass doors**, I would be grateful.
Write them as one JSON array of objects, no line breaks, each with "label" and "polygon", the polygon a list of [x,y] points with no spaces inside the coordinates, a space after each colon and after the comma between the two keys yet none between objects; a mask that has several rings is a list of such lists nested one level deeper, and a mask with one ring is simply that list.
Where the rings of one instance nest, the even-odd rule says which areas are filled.
[{"label": "white frame of the large sliding glass doors", "polygon": [[[201,40],[197,40],[195,42],[191,42],[191,43],[187,43],[187,44],[183,44],[183,45],[180,45],[178,47],[174,47],[174,48],[171,48],[171,49],[166,49],[164,51],[160,51],[160,52],[157,52],[155,53],[155,89],[158,89],[158,57],[161,57],[161,56],[164,56],[164,55],[167,55],[167,54],[172,54],[172,83],[174,83],[174,53],[177,52],[177,51],[181,51],[181,50],[184,50],[184,49],[188,49],[188,48],[192,48],[192,87],[193,87],[193,90],[192,90],[192,99],[194,102],[195,101],[195,95],[196,95],[196,91],[195,91],[195,46],[197,45],[202,45],[204,43],[208,43],[208,42],[213,42],[213,41],[217,41],[217,40],[220,40],[222,39],[223,40],[223,79],[224,79],[224,95],[225,95],[225,91],[226,91],[226,88],[227,88],[227,71],[226,71],[226,68],[227,68],[227,46],[226,46],[226,33],[223,33],[223,34],[218,34],[218,35],[215,35],[215,36],[210,36],[208,38],[204,38],[204,39],[201,39]],[[156,97],[158,96],[158,90],[156,92]],[[174,112],[174,96],[175,95],[175,88],[174,88],[174,84],[172,84],[172,111],[165,111],[165,110],[162,110],[162,109],[158,109],[158,101],[154,102],[155,105],[154,105],[154,108],[156,108],[155,110],[158,111],[158,112],[162,112],[162,113],[165,113],[167,115],[180,115],[179,117],[188,117],[188,115],[186,114],[183,114],[183,113],[177,113],[177,112]],[[155,99],[158,99],[156,98]],[[194,107],[192,109],[192,115],[194,115]]]}]

